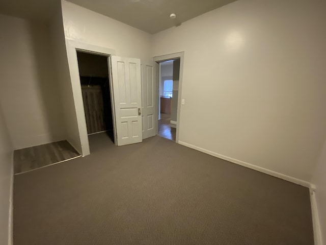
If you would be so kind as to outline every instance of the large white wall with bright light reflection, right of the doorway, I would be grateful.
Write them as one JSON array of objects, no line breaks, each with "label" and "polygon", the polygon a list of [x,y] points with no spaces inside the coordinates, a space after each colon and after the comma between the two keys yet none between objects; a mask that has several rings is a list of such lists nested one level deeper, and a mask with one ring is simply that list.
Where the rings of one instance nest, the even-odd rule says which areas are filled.
[{"label": "large white wall with bright light reflection, right of the doorway", "polygon": [[326,135],[325,5],[239,0],[153,35],[153,56],[185,52],[179,140],[310,181]]}]

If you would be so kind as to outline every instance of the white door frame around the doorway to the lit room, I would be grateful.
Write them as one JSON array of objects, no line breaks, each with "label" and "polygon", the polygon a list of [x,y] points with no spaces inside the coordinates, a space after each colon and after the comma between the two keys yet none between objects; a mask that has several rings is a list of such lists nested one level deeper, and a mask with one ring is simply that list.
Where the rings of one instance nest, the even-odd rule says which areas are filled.
[{"label": "white door frame around the doorway to the lit room", "polygon": [[159,62],[180,59],[180,71],[179,71],[179,90],[178,90],[178,106],[177,106],[177,130],[175,136],[175,142],[179,143],[179,125],[180,125],[180,113],[181,113],[181,98],[182,98],[182,79],[183,79],[183,61],[184,61],[184,52],[173,53],[168,55],[161,55],[153,57],[153,61],[156,62],[156,135],[158,135],[158,87],[159,87]]}]

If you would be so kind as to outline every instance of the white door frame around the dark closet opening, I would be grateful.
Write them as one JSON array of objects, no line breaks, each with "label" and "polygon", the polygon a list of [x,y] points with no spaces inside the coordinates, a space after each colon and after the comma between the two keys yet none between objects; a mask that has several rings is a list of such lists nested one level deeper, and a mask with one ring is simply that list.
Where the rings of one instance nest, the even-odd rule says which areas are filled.
[{"label": "white door frame around the dark closet opening", "polygon": [[107,69],[110,79],[110,95],[111,95],[111,107],[113,117],[113,132],[115,144],[117,144],[116,135],[116,116],[115,116],[115,104],[114,104],[114,93],[113,93],[113,80],[112,80],[112,68],[111,68],[111,56],[116,54],[115,50],[106,47],[100,47],[88,43],[82,43],[74,40],[66,39],[67,47],[67,58],[70,72],[71,87],[73,93],[73,100],[76,110],[77,127],[80,138],[80,145],[82,152],[79,152],[82,156],[90,155],[90,147],[88,141],[88,133],[86,126],[86,116],[83,103],[82,85],[80,84],[79,68],[77,60],[77,51],[97,54],[107,57]]}]

